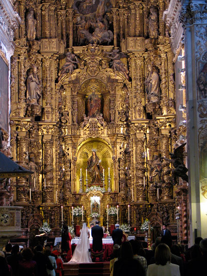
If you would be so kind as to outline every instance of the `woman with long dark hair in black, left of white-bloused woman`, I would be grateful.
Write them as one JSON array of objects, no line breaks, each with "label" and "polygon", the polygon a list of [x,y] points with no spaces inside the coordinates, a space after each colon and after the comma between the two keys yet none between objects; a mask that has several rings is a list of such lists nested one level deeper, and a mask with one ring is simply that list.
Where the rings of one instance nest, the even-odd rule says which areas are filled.
[{"label": "woman with long dark hair in black, left of white-bloused woman", "polygon": [[130,242],[124,241],[120,247],[120,257],[114,262],[113,276],[144,276],[145,271],[140,262],[133,258]]}]

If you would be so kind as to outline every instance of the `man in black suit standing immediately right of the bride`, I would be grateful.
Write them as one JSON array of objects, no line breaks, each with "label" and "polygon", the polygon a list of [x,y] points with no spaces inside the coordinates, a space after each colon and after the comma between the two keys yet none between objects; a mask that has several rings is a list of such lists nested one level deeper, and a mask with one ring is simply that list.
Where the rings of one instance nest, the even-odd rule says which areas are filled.
[{"label": "man in black suit standing immediately right of the bride", "polygon": [[[103,228],[99,226],[99,221],[96,221],[96,226],[91,228],[91,235],[93,238],[93,251],[101,251],[103,249],[102,238],[103,238]],[[95,261],[95,259],[92,259]],[[100,256],[100,261],[102,257]]]}]

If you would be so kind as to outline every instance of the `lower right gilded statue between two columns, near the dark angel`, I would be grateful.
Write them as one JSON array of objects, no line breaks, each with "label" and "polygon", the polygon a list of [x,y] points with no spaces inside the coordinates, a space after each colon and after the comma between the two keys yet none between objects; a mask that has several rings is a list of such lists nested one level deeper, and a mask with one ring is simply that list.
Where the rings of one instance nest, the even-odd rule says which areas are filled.
[{"label": "lower right gilded statue between two columns, near the dark angel", "polygon": [[154,183],[161,182],[161,169],[162,169],[162,162],[161,162],[161,154],[154,153],[153,160],[149,161],[149,178],[150,181],[154,181]]}]

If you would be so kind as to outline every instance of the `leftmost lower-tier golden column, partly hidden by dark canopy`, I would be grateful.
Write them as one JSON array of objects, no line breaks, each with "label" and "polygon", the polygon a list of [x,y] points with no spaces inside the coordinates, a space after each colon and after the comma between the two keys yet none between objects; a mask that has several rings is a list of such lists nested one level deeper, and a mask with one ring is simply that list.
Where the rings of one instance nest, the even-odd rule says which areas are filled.
[{"label": "leftmost lower-tier golden column, partly hidden by dark canopy", "polygon": [[[26,131],[18,131],[18,161],[19,165],[28,169],[28,136]],[[27,161],[27,162],[26,162]],[[29,201],[29,184],[25,177],[18,179],[17,201]]]}]

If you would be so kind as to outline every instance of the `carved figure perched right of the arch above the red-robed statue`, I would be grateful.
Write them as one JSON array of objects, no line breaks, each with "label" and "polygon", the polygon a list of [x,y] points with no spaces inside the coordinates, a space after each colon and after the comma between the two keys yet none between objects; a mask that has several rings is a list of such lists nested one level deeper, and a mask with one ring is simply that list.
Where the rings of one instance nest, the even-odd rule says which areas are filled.
[{"label": "carved figure perched right of the arch above the red-robed statue", "polygon": [[109,63],[111,68],[115,72],[115,77],[117,76],[117,72],[121,73],[126,77],[127,80],[129,80],[129,70],[127,69],[127,66],[121,61],[121,58],[126,58],[126,55],[123,53],[119,53],[118,49],[112,50],[112,52],[105,52],[105,54],[108,54],[106,57],[112,59],[112,61]]}]

